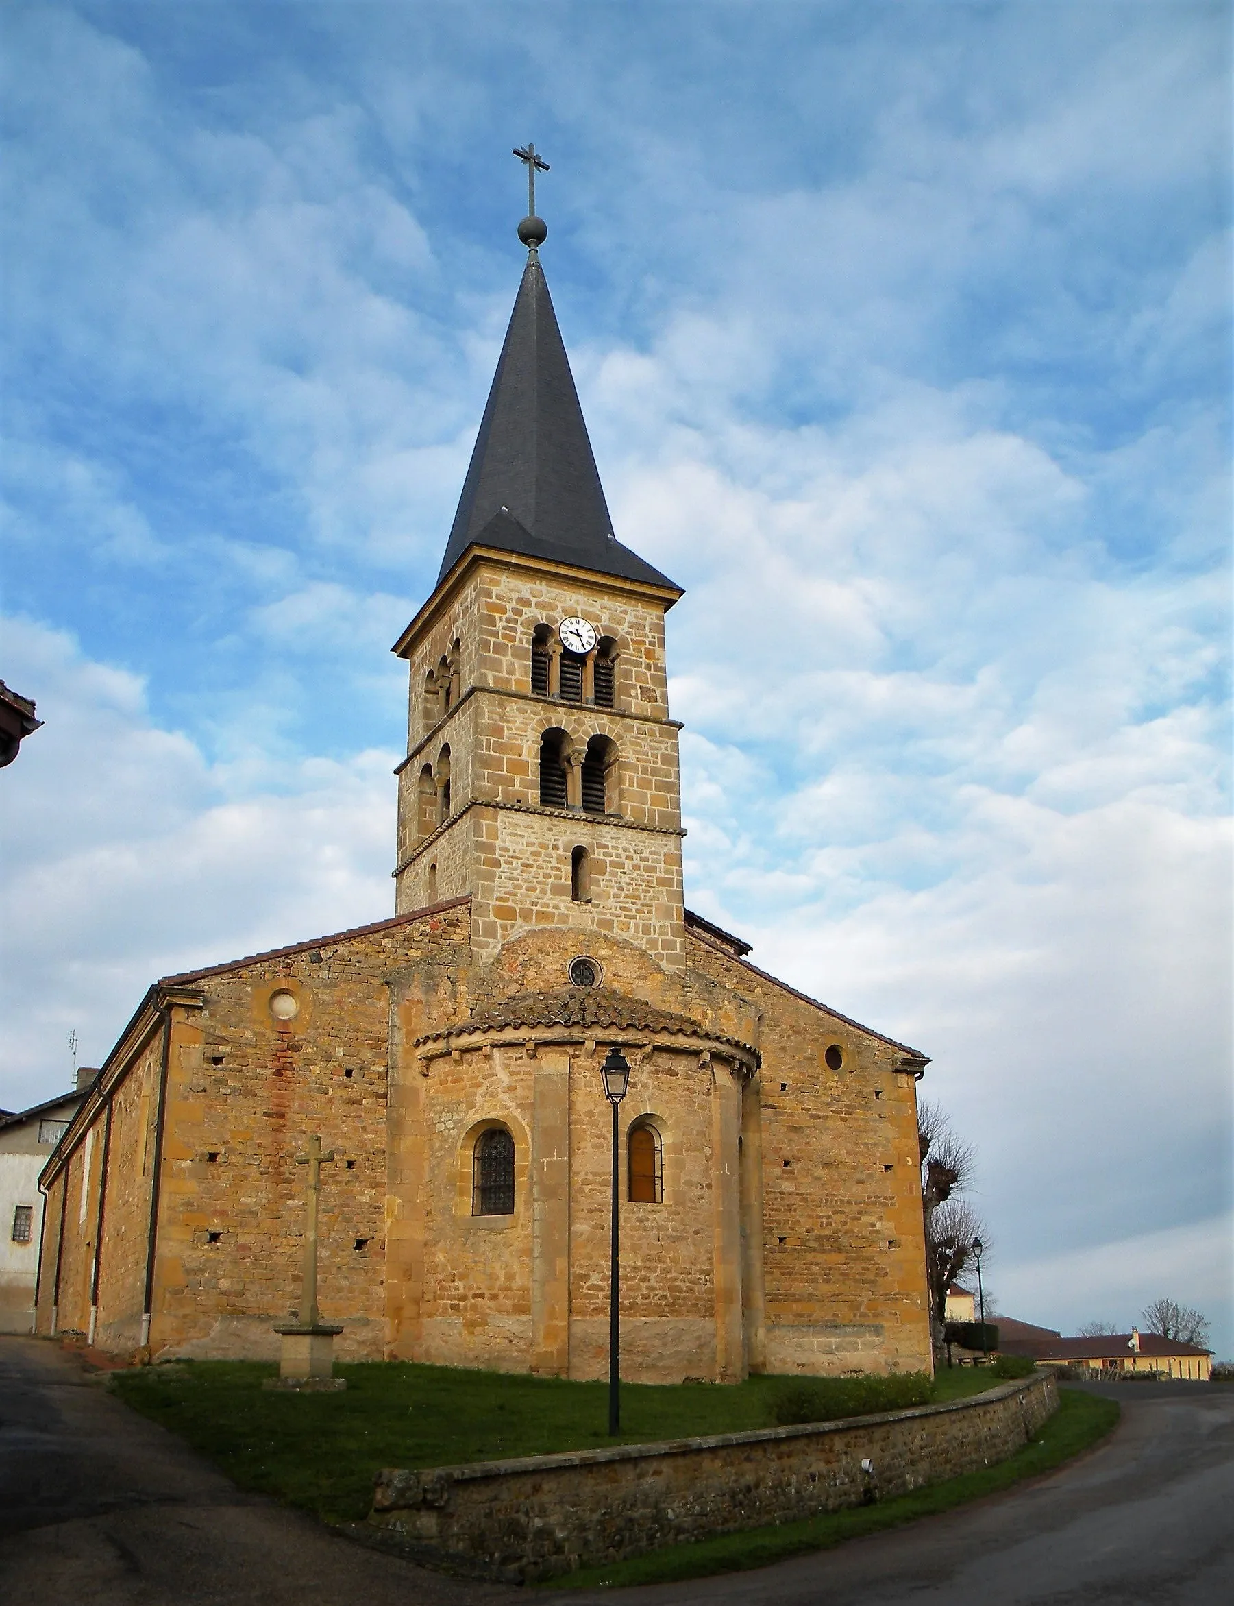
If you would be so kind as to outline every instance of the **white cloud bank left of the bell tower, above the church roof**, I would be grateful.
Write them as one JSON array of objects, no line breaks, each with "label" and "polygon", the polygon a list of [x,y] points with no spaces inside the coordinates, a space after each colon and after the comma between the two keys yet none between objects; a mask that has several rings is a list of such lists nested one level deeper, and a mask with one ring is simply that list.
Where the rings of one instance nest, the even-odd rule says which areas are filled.
[{"label": "white cloud bank left of the bell tower, above the church roof", "polygon": [[[393,912],[396,755],[210,768],[141,684],[64,633],[5,623],[6,673],[45,721],[5,771],[0,1107],[58,1092],[67,1034],[99,1063],[160,975]],[[274,779],[270,771],[266,782]]]}]

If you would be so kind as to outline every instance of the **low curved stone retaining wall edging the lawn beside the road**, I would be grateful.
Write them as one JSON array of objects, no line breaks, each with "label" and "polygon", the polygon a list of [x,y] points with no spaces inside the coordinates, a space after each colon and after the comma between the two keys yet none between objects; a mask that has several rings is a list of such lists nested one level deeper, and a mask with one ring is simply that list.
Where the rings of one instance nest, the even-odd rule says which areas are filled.
[{"label": "low curved stone retaining wall edging the lawn beside the road", "polygon": [[[387,1468],[374,1539],[534,1582],[661,1545],[794,1522],[1001,1461],[1057,1408],[1053,1372],[915,1410],[512,1461]],[[372,1531],[371,1529],[371,1531]]]}]

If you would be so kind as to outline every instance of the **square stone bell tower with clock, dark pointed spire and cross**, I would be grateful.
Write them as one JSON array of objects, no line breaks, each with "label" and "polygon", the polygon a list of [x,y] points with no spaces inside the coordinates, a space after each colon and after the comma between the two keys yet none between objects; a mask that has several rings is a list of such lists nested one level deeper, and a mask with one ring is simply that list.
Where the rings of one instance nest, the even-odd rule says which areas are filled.
[{"label": "square stone bell tower with clock, dark pointed spire and cross", "polygon": [[393,649],[411,679],[396,907],[470,895],[477,954],[560,925],[677,970],[664,615],[682,591],[613,535],[539,263],[546,234],[533,204],[436,588]]}]

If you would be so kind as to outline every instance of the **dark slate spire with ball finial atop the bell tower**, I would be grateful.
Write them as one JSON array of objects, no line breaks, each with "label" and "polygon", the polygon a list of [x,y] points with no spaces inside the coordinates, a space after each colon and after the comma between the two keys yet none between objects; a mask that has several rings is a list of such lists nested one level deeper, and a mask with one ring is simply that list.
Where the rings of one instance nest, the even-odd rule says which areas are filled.
[{"label": "dark slate spire with ball finial atop the bell tower", "polygon": [[602,575],[669,586],[613,536],[574,376],[539,265],[547,228],[525,217],[523,283],[480,421],[438,583],[469,546],[496,546]]}]

